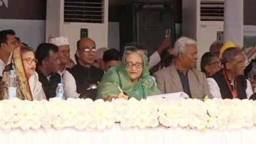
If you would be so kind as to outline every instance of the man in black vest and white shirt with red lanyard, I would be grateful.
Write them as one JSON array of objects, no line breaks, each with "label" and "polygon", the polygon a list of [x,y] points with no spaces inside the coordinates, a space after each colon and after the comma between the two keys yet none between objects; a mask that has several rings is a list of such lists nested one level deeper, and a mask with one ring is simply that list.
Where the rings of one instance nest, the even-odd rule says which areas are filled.
[{"label": "man in black vest and white shirt with red lanyard", "polygon": [[240,48],[227,48],[223,52],[224,68],[208,78],[211,95],[215,98],[249,98],[253,91],[244,77],[245,56]]}]

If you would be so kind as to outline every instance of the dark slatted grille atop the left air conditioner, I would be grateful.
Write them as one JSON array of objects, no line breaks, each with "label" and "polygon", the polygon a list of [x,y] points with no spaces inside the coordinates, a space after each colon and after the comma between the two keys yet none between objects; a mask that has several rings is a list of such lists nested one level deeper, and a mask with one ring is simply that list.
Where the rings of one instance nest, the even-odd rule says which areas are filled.
[{"label": "dark slatted grille atop the left air conditioner", "polygon": [[65,0],[64,22],[104,22],[104,0]]}]

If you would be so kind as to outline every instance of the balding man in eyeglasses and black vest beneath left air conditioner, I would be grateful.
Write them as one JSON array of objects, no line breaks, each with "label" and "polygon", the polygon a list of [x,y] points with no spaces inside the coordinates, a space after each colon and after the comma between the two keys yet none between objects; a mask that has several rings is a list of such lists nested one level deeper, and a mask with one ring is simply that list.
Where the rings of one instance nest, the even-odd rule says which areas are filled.
[{"label": "balding man in eyeglasses and black vest beneath left air conditioner", "polygon": [[82,38],[77,41],[76,56],[78,58],[70,73],[75,78],[77,93],[84,94],[86,98],[96,99],[95,85],[100,83],[104,72],[93,66],[96,56],[95,41]]}]

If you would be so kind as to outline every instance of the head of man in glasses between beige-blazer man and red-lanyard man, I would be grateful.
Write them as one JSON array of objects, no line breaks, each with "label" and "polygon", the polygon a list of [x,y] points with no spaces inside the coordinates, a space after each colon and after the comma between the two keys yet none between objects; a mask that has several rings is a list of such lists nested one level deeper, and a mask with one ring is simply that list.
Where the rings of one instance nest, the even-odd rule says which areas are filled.
[{"label": "head of man in glasses between beige-blazer man and red-lanyard man", "polygon": [[205,52],[201,59],[201,71],[205,73],[206,77],[211,77],[221,70],[221,60],[211,52]]}]

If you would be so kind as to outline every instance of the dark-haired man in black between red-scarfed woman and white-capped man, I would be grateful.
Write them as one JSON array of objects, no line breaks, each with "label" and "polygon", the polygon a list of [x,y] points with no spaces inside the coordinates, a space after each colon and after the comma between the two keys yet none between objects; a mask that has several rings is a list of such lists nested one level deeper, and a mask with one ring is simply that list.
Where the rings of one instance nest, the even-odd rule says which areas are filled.
[{"label": "dark-haired man in black between red-scarfed woman and white-capped man", "polygon": [[42,43],[37,47],[35,58],[38,63],[36,71],[39,81],[42,83],[43,91],[47,99],[56,96],[56,88],[60,83],[58,74],[58,46],[51,43]]}]

